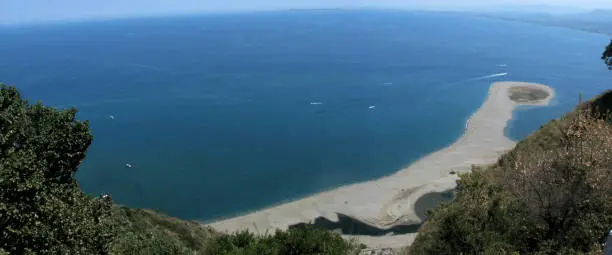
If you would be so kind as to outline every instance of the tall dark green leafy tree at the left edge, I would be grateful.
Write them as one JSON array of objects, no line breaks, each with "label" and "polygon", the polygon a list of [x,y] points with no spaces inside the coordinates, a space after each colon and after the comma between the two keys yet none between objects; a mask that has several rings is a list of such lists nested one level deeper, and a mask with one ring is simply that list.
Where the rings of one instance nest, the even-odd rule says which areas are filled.
[{"label": "tall dark green leafy tree at the left edge", "polygon": [[74,178],[92,142],[76,109],[29,104],[0,84],[0,250],[11,254],[105,254],[112,201]]}]

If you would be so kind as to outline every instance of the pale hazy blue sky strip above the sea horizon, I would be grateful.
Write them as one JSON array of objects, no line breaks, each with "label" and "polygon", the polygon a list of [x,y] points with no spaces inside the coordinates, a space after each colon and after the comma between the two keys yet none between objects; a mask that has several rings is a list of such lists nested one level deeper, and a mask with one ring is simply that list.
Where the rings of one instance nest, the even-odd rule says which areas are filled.
[{"label": "pale hazy blue sky strip above the sea horizon", "polygon": [[612,0],[0,0],[0,24],[300,8],[476,10],[520,5],[612,9]]}]

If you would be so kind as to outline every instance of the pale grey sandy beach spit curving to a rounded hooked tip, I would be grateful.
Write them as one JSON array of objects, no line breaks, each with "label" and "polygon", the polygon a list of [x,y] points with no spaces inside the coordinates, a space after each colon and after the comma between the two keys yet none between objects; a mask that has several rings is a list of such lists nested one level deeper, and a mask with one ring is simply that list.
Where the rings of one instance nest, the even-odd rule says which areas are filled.
[{"label": "pale grey sandy beach spit curving to a rounded hooked tip", "polygon": [[[539,90],[538,95],[545,98],[516,100],[530,98],[516,96],[522,89],[526,93]],[[511,91],[516,101],[510,99]],[[548,105],[553,97],[553,89],[541,84],[494,83],[485,102],[467,120],[463,136],[452,145],[421,158],[407,168],[377,180],[339,187],[209,225],[219,231],[249,229],[265,233],[286,229],[298,223],[309,223],[319,217],[338,221],[338,213],[379,229],[420,224],[421,219],[416,215],[414,205],[422,195],[454,188],[458,177],[451,172],[465,172],[470,170],[471,165],[494,163],[500,154],[515,145],[514,141],[504,135],[514,109],[522,105]],[[347,238],[356,237],[369,247],[391,248],[407,246],[415,236],[416,233],[345,235]]]}]

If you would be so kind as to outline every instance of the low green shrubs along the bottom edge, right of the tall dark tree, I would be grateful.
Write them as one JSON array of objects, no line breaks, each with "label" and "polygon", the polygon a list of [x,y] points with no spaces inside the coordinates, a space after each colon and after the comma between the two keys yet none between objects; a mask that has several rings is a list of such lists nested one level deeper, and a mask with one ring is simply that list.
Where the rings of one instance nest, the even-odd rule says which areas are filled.
[{"label": "low green shrubs along the bottom edge, right of the tall dark tree", "polygon": [[358,246],[340,235],[313,228],[255,235],[222,234],[196,221],[184,221],[145,209],[118,207],[123,228],[112,254],[351,254]]}]

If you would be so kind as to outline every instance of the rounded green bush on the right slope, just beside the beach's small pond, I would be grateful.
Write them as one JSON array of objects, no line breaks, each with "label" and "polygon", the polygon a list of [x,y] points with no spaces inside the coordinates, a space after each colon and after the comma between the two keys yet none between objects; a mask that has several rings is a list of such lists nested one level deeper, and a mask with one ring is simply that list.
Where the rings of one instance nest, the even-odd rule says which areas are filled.
[{"label": "rounded green bush on the right slope, just beside the beach's small pond", "polygon": [[510,199],[487,169],[475,168],[458,181],[453,202],[429,213],[409,254],[513,254],[532,243],[522,205]]}]

